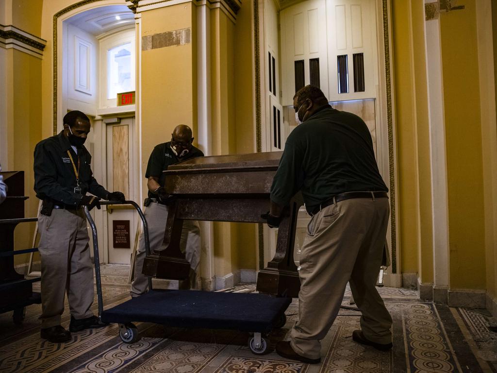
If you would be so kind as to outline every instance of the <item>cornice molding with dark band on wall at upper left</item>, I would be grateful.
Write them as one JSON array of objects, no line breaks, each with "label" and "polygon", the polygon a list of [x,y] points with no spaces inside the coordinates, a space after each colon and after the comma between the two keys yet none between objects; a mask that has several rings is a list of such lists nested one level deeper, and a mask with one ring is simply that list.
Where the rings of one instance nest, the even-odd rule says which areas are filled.
[{"label": "cornice molding with dark band on wall at upper left", "polygon": [[15,26],[0,24],[0,47],[42,58],[47,41]]}]

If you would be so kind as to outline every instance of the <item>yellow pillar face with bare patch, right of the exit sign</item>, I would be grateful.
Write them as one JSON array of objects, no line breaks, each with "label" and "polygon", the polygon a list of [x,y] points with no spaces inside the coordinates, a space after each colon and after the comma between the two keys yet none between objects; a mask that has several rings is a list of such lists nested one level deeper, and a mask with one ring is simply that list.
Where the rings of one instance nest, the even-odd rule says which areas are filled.
[{"label": "yellow pillar face with bare patch, right of the exit sign", "polygon": [[[191,28],[192,4],[184,3],[142,12],[142,36]],[[192,30],[192,39],[194,32]],[[197,132],[196,53],[193,44],[142,51],[142,169],[157,144],[169,141],[178,124]],[[143,197],[147,194],[143,179]]]}]

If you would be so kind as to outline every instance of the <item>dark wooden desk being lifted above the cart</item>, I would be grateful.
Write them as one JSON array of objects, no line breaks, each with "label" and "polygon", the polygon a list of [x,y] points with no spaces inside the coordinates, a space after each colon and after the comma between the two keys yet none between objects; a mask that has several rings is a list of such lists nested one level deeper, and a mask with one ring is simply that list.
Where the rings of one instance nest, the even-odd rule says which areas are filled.
[{"label": "dark wooden desk being lifted above the cart", "polygon": [[[193,158],[169,166],[167,192],[175,196],[169,205],[161,251],[145,259],[148,276],[183,280],[189,263],[180,252],[183,220],[265,223],[260,217],[269,208],[269,191],[281,152]],[[300,281],[293,260],[299,195],[284,209],[276,254],[259,271],[257,290],[276,296],[298,295]]]}]

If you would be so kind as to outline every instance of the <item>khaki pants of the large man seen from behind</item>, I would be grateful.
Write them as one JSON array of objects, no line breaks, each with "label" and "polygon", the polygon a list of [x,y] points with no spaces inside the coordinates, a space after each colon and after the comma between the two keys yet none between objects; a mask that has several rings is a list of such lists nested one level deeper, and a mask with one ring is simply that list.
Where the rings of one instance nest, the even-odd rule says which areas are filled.
[{"label": "khaki pants of the large man seen from behind", "polygon": [[392,342],[392,317],[376,290],[389,216],[388,198],[355,198],[325,207],[313,216],[301,249],[299,321],[291,346],[318,359],[340,309],[347,281],[361,310],[364,336]]}]

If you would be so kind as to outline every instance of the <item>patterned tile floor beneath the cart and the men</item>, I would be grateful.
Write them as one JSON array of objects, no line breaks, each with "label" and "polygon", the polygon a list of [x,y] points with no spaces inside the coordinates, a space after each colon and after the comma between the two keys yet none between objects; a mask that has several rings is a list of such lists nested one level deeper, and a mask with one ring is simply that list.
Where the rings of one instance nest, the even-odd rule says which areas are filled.
[{"label": "patterned tile floor beneath the cart and the men", "polygon": [[[129,297],[126,266],[104,266],[106,307]],[[169,285],[167,285],[169,286]],[[233,291],[254,289],[241,284]],[[378,352],[351,339],[358,311],[343,308],[323,339],[322,363],[308,365],[280,358],[273,350],[298,318],[298,300],[286,310],[287,322],[269,336],[267,355],[253,355],[248,334],[234,330],[166,328],[137,323],[141,338],[124,344],[118,326],[73,333],[68,343],[39,338],[40,305],[26,308],[22,326],[11,313],[0,315],[0,372],[29,373],[403,373],[497,372],[497,334],[481,309],[449,308],[422,302],[409,289],[380,288],[394,319],[394,348]],[[347,289],[343,305],[349,306]],[[96,304],[93,306],[96,310]],[[69,324],[67,307],[63,326]]]}]

